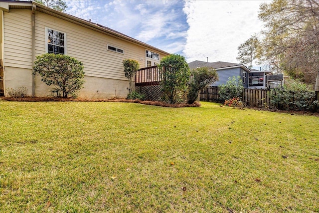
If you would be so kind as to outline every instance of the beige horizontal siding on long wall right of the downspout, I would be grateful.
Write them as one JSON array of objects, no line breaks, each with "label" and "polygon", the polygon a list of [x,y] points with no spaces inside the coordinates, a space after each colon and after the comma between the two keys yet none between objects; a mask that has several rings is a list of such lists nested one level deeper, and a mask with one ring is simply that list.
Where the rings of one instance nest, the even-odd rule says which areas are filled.
[{"label": "beige horizontal siding on long wall right of the downspout", "polygon": [[[45,27],[48,27],[66,33],[67,54],[83,62],[87,76],[127,80],[122,63],[126,58],[135,59],[141,68],[145,67],[145,47],[38,11],[35,17],[36,55],[45,52]],[[124,54],[107,50],[107,45],[124,49]]]}]

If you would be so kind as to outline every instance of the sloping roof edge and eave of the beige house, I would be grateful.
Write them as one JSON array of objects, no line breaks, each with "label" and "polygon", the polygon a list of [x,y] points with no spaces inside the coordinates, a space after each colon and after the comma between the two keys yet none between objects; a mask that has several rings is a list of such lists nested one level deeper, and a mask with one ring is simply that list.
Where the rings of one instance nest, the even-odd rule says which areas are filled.
[{"label": "sloping roof edge and eave of the beige house", "polygon": [[58,10],[49,8],[49,7],[44,6],[42,4],[36,3],[34,1],[1,0],[0,9],[2,9],[4,11],[8,11],[9,8],[18,8],[18,9],[27,8],[27,9],[31,9],[33,6],[35,6],[37,11],[40,11],[40,12],[43,12],[43,13],[46,13],[46,14],[49,14],[49,15],[64,19],[64,20],[67,20],[69,22],[78,24],[80,26],[84,26],[86,28],[89,28],[89,29],[92,29],[92,30],[95,30],[95,31],[98,31],[98,32],[101,32],[101,33],[104,33],[104,34],[107,34],[107,35],[110,35],[112,37],[116,37],[116,38],[121,39],[121,40],[126,40],[128,42],[135,43],[135,44],[138,44],[138,45],[143,46],[143,47],[154,49],[154,50],[156,50],[156,51],[158,51],[160,53],[163,53],[163,54],[168,54],[168,55],[170,54],[170,53],[168,53],[166,51],[163,51],[163,50],[161,50],[161,49],[159,49],[157,47],[154,47],[154,46],[152,46],[150,44],[147,44],[147,43],[144,43],[142,41],[139,41],[139,40],[137,40],[137,39],[135,39],[133,37],[125,35],[125,34],[123,34],[121,32],[118,32],[118,31],[116,31],[114,29],[111,29],[109,27],[106,27],[106,26],[103,26],[101,24],[94,23],[94,22],[91,22],[91,21],[88,21],[88,20],[85,20],[85,19],[82,19],[82,18],[78,18],[76,16],[67,14],[65,12],[60,12]]}]

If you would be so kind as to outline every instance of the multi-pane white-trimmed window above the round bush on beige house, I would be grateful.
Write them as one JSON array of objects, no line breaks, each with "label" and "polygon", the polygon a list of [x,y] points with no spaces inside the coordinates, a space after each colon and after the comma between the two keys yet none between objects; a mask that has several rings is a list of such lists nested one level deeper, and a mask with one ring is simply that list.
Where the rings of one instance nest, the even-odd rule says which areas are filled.
[{"label": "multi-pane white-trimmed window above the round bush on beige house", "polygon": [[66,33],[46,28],[46,52],[66,54]]}]

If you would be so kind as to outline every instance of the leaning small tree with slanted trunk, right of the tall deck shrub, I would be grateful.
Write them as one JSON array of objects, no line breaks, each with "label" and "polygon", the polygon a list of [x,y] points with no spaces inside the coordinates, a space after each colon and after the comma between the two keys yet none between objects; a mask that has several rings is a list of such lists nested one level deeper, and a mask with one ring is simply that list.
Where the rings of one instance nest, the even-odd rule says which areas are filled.
[{"label": "leaning small tree with slanted trunk, right of the tall deck shrub", "polygon": [[218,81],[218,74],[211,67],[198,67],[190,72],[190,83],[188,86],[187,103],[192,104],[196,101],[200,90]]}]

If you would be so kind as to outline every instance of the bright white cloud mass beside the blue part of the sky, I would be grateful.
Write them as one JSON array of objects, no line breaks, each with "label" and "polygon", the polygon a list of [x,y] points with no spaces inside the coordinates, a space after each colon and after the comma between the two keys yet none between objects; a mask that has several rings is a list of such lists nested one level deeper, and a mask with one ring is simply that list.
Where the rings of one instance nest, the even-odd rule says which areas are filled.
[{"label": "bright white cloud mass beside the blue part of the sky", "polygon": [[237,47],[263,24],[258,19],[259,0],[186,1],[183,11],[189,29],[183,50],[188,62],[237,62]]}]

